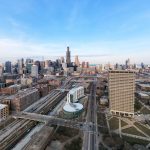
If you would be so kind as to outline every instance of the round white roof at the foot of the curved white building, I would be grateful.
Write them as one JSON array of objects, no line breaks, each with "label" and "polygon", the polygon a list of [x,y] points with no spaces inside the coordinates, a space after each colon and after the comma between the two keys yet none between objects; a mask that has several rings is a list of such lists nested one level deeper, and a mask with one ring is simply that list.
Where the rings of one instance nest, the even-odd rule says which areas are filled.
[{"label": "round white roof at the foot of the curved white building", "polygon": [[68,112],[77,112],[83,109],[83,105],[80,103],[66,103],[63,109]]}]

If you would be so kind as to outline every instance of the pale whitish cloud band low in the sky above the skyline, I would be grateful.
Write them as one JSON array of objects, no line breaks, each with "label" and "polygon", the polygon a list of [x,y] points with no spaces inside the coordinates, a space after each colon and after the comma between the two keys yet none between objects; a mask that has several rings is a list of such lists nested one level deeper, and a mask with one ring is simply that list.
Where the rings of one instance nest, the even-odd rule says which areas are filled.
[{"label": "pale whitish cloud band low in the sky above the skyline", "polygon": [[[82,55],[81,60],[91,63],[123,63],[128,57],[134,63],[142,60],[149,62],[150,44],[147,41],[128,40],[128,41],[95,41],[95,42],[69,42],[72,55]],[[67,44],[65,42],[38,42],[21,41],[15,39],[0,39],[1,57],[31,57],[44,56],[45,58],[55,59],[54,56],[65,56]],[[99,57],[86,57],[86,55],[100,55]]]}]

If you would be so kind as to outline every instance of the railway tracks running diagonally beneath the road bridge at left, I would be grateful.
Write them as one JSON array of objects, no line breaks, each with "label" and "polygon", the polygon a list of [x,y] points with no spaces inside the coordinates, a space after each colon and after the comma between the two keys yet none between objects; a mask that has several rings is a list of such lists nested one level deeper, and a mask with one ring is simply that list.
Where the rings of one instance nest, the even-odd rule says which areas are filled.
[{"label": "railway tracks running diagonally beneath the road bridge at left", "polygon": [[[71,88],[72,84],[69,83],[65,86],[66,89]],[[50,94],[41,98],[36,105],[27,108],[26,112],[34,112],[39,114],[47,114],[52,110],[64,97],[65,93],[53,90]],[[0,150],[7,150],[12,148],[22,137],[24,137],[37,122],[16,119],[11,124],[0,130]]]}]

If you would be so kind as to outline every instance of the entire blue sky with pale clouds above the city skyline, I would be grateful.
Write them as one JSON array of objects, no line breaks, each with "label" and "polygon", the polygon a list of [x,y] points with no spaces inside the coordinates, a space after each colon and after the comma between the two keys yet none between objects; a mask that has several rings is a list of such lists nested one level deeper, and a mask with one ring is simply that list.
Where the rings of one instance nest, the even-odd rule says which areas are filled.
[{"label": "entire blue sky with pale clouds above the city skyline", "polygon": [[150,0],[0,0],[1,58],[73,55],[150,64]]}]

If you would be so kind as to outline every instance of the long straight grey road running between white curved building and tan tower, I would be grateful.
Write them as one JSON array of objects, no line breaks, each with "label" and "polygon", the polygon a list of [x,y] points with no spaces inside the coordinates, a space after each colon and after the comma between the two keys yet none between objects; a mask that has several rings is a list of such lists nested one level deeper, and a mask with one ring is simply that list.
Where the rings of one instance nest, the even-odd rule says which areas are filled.
[{"label": "long straight grey road running between white curved building and tan tower", "polygon": [[[82,150],[98,150],[97,104],[96,104],[96,80],[91,87],[89,96],[86,123],[91,124],[92,132],[84,132]],[[93,127],[94,126],[94,127]]]}]

